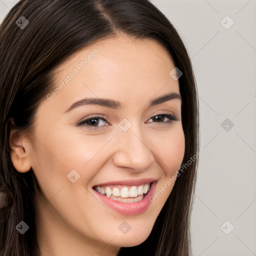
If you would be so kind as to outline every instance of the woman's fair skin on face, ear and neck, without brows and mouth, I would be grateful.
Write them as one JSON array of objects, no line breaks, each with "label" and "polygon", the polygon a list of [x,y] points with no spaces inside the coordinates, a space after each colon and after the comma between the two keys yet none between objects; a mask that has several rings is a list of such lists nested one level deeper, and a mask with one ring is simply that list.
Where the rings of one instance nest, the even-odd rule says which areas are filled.
[{"label": "woman's fair skin on face, ear and neck, without brows and mouth", "polygon": [[[157,191],[184,156],[181,100],[149,106],[162,95],[180,94],[178,80],[169,75],[174,64],[159,43],[125,35],[97,41],[60,64],[54,88],[95,48],[98,53],[87,65],[52,99],[45,97],[40,103],[32,133],[14,128],[10,132],[14,167],[19,172],[32,168],[42,190],[35,197],[42,256],[114,256],[122,246],[143,242],[174,183],[136,215],[104,205],[92,187],[105,181],[153,178]],[[65,112],[85,97],[118,100],[122,107],[87,104]],[[177,120],[152,118],[160,113],[173,113]],[[76,125],[92,114],[107,122],[99,118],[94,130],[87,128],[92,126],[88,122]],[[118,126],[123,118],[131,123],[127,131]],[[80,175],[74,183],[67,178],[72,169]],[[123,221],[131,226],[125,234],[118,229]]]}]

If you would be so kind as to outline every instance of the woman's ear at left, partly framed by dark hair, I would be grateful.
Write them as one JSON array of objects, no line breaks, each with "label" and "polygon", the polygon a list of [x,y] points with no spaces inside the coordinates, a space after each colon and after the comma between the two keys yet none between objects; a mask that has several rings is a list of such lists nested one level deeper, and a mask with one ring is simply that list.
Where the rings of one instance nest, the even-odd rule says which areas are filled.
[{"label": "woman's ear at left, partly framed by dark hair", "polygon": [[9,125],[10,158],[13,166],[19,172],[29,171],[31,164],[27,152],[27,138],[15,125],[12,117],[7,121],[7,125]]}]

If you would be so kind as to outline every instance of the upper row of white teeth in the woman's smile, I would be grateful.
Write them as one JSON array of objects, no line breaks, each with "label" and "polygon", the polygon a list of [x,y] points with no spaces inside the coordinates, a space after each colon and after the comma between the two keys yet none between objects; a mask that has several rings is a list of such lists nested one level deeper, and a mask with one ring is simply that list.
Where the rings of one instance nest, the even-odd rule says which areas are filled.
[{"label": "upper row of white teeth in the woman's smile", "polygon": [[150,183],[139,185],[139,186],[131,186],[130,189],[128,189],[127,186],[122,186],[122,188],[119,190],[118,187],[113,187],[112,189],[107,186],[105,189],[101,186],[96,186],[95,189],[101,193],[106,195],[107,197],[110,197],[112,194],[113,196],[120,196],[122,198],[125,197],[136,197],[141,194],[147,193],[147,191],[150,188]]}]

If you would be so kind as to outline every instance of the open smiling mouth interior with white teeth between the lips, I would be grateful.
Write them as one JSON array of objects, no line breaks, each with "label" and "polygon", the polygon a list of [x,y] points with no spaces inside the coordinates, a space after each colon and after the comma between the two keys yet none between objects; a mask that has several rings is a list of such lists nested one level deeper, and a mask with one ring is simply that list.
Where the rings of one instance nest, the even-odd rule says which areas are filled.
[{"label": "open smiling mouth interior with white teeth between the lips", "polygon": [[150,190],[151,184],[145,183],[141,185],[105,185],[105,186],[93,186],[92,189],[98,193],[107,196],[116,201],[133,203],[141,201],[144,196]]}]

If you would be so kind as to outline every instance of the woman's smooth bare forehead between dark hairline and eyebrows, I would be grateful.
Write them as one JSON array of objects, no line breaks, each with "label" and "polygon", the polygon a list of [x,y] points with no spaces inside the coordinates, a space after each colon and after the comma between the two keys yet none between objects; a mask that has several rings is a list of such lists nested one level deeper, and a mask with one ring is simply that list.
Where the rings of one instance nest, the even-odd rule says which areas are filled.
[{"label": "woman's smooth bare forehead between dark hairline and eyebrows", "polygon": [[71,104],[96,96],[133,104],[158,92],[179,93],[178,81],[169,75],[173,68],[167,50],[154,40],[125,35],[104,38],[75,52],[55,69],[54,86],[62,85],[54,99]]}]

